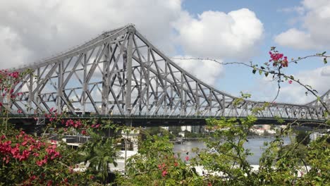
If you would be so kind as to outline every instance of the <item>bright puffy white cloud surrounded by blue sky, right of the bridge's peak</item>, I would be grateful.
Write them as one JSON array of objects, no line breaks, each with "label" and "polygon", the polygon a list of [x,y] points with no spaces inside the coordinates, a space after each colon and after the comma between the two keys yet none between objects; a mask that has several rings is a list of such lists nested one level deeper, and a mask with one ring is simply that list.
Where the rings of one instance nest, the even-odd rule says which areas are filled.
[{"label": "bright puffy white cloud surrounded by blue sky, right of the bridge's peak", "polygon": [[186,54],[212,58],[251,57],[264,31],[261,21],[247,8],[228,14],[205,11],[197,18],[183,12],[174,27]]}]

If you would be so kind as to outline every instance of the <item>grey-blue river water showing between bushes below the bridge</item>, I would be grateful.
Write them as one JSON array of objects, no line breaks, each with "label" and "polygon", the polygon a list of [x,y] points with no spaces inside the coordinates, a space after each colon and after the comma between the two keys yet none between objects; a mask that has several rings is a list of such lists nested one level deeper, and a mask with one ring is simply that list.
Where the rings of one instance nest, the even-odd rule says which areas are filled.
[{"label": "grey-blue river water showing between bushes below the bridge", "polygon": [[[259,159],[264,151],[264,142],[271,142],[274,140],[274,137],[252,137],[248,140],[248,142],[245,142],[244,147],[245,149],[250,149],[252,156],[248,156],[247,161],[249,161],[251,165],[259,165]],[[284,144],[291,143],[290,137],[284,137],[283,140]],[[199,149],[206,149],[204,142],[185,142],[184,144],[175,144],[173,151],[175,153],[180,153],[181,159],[184,160],[187,153],[190,158],[196,156],[196,154],[192,152],[192,149],[196,147]]]}]

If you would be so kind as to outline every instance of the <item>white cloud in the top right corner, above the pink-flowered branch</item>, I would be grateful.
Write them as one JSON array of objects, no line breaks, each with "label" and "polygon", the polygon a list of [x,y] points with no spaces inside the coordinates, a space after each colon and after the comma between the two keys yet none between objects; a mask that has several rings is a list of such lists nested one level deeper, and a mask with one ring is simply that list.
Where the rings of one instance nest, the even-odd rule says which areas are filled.
[{"label": "white cloud in the top right corner, above the pink-flowered branch", "polygon": [[275,42],[295,49],[322,49],[330,46],[330,1],[302,1],[305,15],[302,29],[291,28],[275,37]]}]

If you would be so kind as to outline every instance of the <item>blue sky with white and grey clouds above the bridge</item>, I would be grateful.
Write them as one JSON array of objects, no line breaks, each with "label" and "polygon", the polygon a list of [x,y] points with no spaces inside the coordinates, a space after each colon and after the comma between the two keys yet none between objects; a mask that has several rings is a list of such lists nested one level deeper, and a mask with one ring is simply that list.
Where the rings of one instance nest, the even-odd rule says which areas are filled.
[{"label": "blue sky with white and grey clouds above the bridge", "polygon": [[[42,61],[106,30],[133,23],[154,46],[173,58],[214,58],[262,64],[276,46],[288,58],[328,51],[329,0],[0,0],[0,68]],[[277,83],[244,66],[174,60],[217,89],[271,101]],[[294,75],[323,94],[330,67],[322,58],[290,64]],[[305,89],[283,82],[278,102],[305,104]]]}]

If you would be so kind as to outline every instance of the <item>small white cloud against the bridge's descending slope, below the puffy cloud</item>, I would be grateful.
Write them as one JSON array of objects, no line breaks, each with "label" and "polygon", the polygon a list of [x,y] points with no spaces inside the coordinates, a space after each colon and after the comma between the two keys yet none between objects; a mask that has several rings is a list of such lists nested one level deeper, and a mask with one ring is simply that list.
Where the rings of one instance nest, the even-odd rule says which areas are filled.
[{"label": "small white cloud against the bridge's descending slope, below the puffy cloud", "polygon": [[[191,58],[191,56],[175,56],[174,58]],[[181,60],[174,59],[175,63],[181,68],[188,71],[198,79],[202,80],[209,85],[215,85],[216,80],[224,75],[224,67],[219,63],[213,61],[200,61],[200,60]],[[218,60],[222,62],[221,60]]]}]

